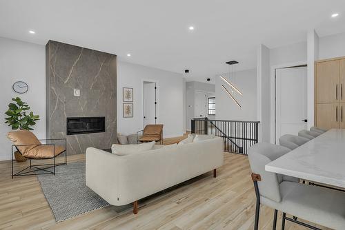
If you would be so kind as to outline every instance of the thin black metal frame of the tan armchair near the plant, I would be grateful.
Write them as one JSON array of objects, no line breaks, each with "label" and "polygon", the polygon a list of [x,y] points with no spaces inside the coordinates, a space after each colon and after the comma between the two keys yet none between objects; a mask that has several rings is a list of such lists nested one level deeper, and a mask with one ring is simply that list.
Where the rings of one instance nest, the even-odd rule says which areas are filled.
[{"label": "thin black metal frame of the tan armchair near the plant", "polygon": [[[63,152],[65,152],[65,162],[64,163],[55,163],[55,158],[57,156],[53,156],[52,158],[27,158],[25,156],[25,158],[30,160],[30,166],[26,167],[25,169],[22,169],[21,171],[17,172],[14,174],[13,172],[13,147],[15,147],[17,149],[17,151],[19,151],[18,147],[21,146],[30,146],[30,145],[12,145],[11,147],[11,167],[12,167],[12,179],[14,176],[34,176],[34,175],[45,175],[45,174],[54,174],[55,175],[55,167],[59,166],[59,165],[67,165],[67,140],[66,138],[56,138],[56,139],[39,139],[39,140],[43,140],[43,141],[47,141],[47,140],[65,140],[65,151],[62,151],[60,154],[58,154],[57,156],[60,156],[61,154],[63,154]],[[41,144],[41,145],[52,145],[53,146],[53,152],[55,155],[55,143],[45,143],[45,144]],[[31,145],[32,146],[32,145]],[[19,151],[19,153],[21,154],[21,152]],[[42,165],[32,165],[31,160],[49,160],[52,159],[53,163],[52,164],[42,164]],[[53,168],[52,171],[48,170],[50,168]],[[34,168],[34,169],[32,169]],[[32,169],[30,171],[26,171],[26,169]],[[44,173],[35,173],[36,171],[45,171]]]}]

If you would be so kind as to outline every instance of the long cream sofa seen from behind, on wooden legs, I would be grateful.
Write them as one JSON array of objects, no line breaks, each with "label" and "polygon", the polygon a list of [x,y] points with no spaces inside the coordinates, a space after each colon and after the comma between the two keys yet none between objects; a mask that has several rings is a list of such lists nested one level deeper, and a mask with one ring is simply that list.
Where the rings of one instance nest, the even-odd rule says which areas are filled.
[{"label": "long cream sofa seen from behind, on wooden legs", "polygon": [[126,156],[86,149],[86,185],[110,205],[121,206],[155,194],[223,165],[223,139],[157,147]]}]

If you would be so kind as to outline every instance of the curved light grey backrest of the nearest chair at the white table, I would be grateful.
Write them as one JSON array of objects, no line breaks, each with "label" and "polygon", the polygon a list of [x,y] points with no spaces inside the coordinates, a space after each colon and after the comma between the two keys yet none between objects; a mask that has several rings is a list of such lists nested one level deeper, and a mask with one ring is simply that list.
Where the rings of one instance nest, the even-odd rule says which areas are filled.
[{"label": "curved light grey backrest of the nearest chair at the white table", "polygon": [[279,183],[282,181],[282,175],[266,171],[265,165],[287,154],[289,151],[290,149],[284,146],[268,143],[258,143],[248,149],[250,168],[254,174],[259,174],[262,178],[261,181],[257,182],[260,196],[276,202],[282,200],[279,191]]}]

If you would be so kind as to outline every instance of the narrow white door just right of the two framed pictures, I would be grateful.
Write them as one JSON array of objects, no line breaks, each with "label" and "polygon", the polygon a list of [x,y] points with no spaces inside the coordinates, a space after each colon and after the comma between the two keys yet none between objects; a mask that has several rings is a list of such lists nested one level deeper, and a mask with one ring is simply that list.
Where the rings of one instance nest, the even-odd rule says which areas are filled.
[{"label": "narrow white door just right of the two framed pictures", "polygon": [[156,83],[144,82],[144,127],[156,122]]}]

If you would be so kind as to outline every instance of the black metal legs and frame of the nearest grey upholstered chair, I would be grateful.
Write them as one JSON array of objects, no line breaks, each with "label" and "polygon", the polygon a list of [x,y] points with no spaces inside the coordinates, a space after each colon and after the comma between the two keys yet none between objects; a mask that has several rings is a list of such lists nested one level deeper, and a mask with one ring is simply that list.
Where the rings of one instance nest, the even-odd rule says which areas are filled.
[{"label": "black metal legs and frame of the nearest grey upholstered chair", "polygon": [[[255,196],[257,198],[256,207],[255,207],[254,230],[258,230],[259,229],[259,214],[260,214],[260,193],[259,193],[259,186],[257,185],[257,182],[261,181],[261,176],[259,174],[252,174],[252,180],[254,182]],[[273,230],[275,230],[277,227],[277,214],[278,214],[278,210],[275,209],[274,218],[273,218]],[[288,220],[290,222],[294,222],[295,224],[302,225],[302,226],[307,227],[309,229],[322,230],[322,229],[319,229],[317,227],[311,226],[310,224],[306,224],[304,222],[297,220],[297,217],[295,217],[295,216],[293,216],[293,218],[288,218],[288,217],[286,217],[286,213],[284,213],[284,212],[283,212],[283,216],[282,216],[282,230],[285,229],[285,220]]]}]

